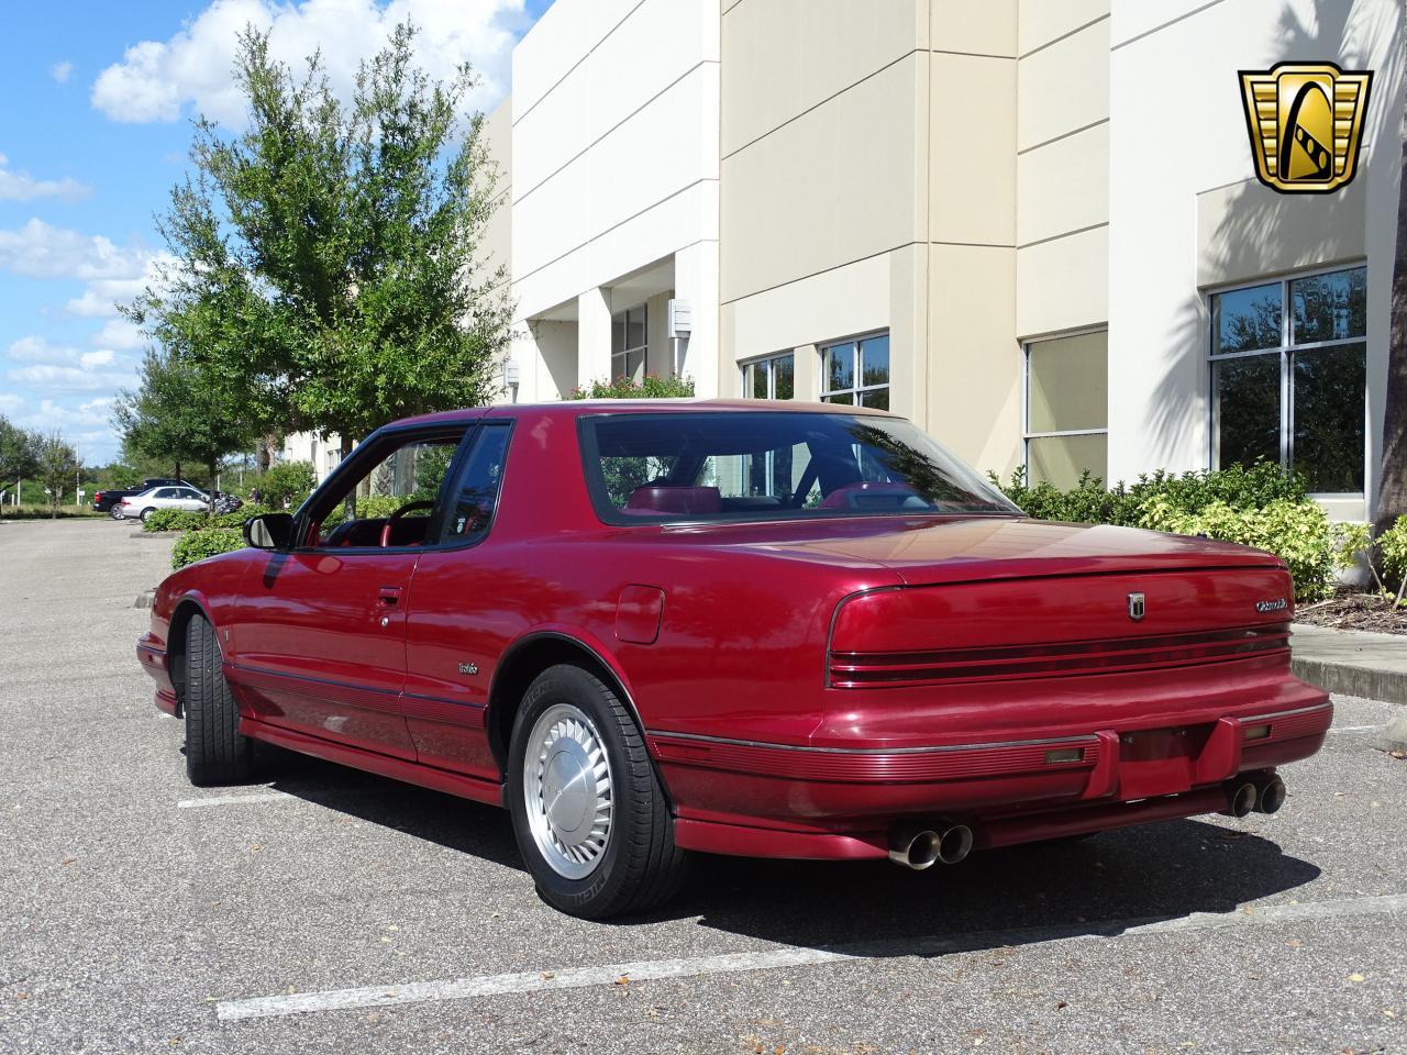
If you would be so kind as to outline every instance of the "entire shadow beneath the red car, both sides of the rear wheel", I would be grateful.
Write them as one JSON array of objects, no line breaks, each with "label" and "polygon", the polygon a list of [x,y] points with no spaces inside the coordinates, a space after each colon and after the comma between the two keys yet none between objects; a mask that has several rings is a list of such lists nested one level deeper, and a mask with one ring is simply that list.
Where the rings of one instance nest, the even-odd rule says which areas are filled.
[{"label": "entire shadow beneath the red car, both sides of the rear wheel", "polygon": [[[279,750],[267,751],[262,768],[274,791],[526,872],[499,809]],[[1261,814],[1166,820],[1078,843],[974,852],[924,872],[886,861],[699,854],[673,902],[601,926],[647,928],[696,917],[709,930],[875,957],[934,955],[936,941],[938,951],[955,952],[1119,934],[1227,913],[1316,879],[1316,865],[1272,841],[1275,829],[1276,820]]]}]

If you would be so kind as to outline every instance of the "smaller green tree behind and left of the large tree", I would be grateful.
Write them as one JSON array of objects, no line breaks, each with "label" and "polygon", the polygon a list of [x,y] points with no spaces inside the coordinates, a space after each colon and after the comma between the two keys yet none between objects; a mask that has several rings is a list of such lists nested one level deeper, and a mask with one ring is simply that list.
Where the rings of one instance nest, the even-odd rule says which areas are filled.
[{"label": "smaller green tree behind and left of the large tree", "polygon": [[174,463],[176,478],[182,463],[193,461],[211,484],[224,457],[253,443],[256,433],[239,392],[221,376],[194,357],[155,350],[142,362],[141,387],[118,397],[113,423],[125,450]]}]

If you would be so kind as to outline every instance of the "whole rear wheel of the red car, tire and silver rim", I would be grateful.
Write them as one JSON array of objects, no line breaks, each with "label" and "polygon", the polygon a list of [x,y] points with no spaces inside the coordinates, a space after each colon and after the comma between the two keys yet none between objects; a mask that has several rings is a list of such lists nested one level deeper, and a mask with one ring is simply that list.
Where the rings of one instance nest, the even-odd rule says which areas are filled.
[{"label": "whole rear wheel of the red car, tire and silver rim", "polygon": [[644,738],[605,682],[580,667],[543,671],[509,754],[514,836],[549,904],[604,919],[674,896],[687,857]]}]

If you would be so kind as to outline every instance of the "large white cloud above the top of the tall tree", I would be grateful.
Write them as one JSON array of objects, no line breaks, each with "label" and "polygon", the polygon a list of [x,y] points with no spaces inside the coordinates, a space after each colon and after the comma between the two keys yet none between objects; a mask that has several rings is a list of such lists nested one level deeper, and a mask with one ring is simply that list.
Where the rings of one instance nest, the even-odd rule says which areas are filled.
[{"label": "large white cloud above the top of the tall tree", "polygon": [[294,69],[321,49],[333,89],[352,91],[357,63],[404,21],[419,27],[421,66],[445,79],[469,62],[481,83],[469,100],[487,108],[507,91],[523,0],[214,0],[166,41],[141,41],[93,83],[93,106],[114,121],[176,121],[194,108],[242,125],[245,106],[231,73],[238,34],[270,34],[270,52]]}]

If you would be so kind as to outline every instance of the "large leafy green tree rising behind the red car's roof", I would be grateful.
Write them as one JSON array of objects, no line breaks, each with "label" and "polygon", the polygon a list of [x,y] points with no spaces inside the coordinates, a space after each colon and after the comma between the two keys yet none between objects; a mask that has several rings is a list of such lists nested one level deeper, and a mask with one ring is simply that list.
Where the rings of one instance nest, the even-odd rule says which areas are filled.
[{"label": "large leafy green tree rising behind the red car's roof", "polygon": [[314,55],[301,75],[246,30],[235,66],[245,131],[196,125],[194,174],[159,222],[177,263],[127,307],[189,349],[265,432],[317,430],[343,453],[387,419],[498,391],[511,307],[477,263],[495,173],[474,84],[412,62],[400,25],[350,104]]}]

